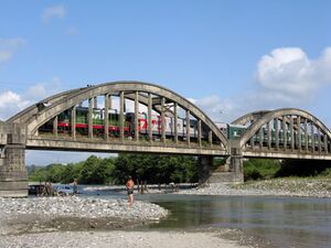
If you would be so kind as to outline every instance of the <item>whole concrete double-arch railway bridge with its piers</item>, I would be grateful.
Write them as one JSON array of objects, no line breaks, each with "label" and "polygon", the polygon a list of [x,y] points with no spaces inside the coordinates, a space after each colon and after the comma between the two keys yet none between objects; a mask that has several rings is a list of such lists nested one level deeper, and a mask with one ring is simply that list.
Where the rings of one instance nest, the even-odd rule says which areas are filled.
[{"label": "whole concrete double-arch railway bridge with its piers", "polygon": [[243,181],[243,158],[331,160],[331,133],[300,109],[252,112],[222,127],[186,98],[142,82],[64,91],[0,122],[0,196],[25,196],[25,149],[190,154],[200,181],[213,157],[228,157],[226,179]]}]

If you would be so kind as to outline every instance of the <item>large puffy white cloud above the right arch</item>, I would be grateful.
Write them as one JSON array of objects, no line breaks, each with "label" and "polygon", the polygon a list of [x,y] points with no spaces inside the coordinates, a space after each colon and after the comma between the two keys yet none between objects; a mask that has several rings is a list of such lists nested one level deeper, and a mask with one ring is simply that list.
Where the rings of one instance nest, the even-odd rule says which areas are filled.
[{"label": "large puffy white cloud above the right arch", "polygon": [[264,55],[257,66],[260,91],[287,104],[312,100],[331,83],[331,47],[311,60],[299,47],[276,48]]}]

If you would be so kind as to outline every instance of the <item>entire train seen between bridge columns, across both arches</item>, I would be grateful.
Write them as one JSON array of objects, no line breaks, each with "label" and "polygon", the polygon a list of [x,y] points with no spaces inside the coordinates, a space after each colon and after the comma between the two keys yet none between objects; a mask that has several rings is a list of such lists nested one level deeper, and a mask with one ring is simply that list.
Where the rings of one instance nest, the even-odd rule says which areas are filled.
[{"label": "entire train seen between bridge columns, across both arches", "polygon": [[[93,131],[96,134],[104,136],[105,132],[105,123],[104,123],[104,109],[94,108],[92,114],[93,119]],[[108,112],[108,128],[109,128],[109,136],[113,137],[119,137],[120,132],[120,115],[118,114],[117,109],[109,109]],[[148,115],[146,112],[139,112],[138,114],[138,131],[140,136],[148,136]],[[164,134],[166,137],[173,137],[174,136],[174,118],[173,117],[164,117]],[[190,119],[190,139],[197,139],[197,121],[195,119]],[[159,139],[162,134],[162,121],[160,115],[152,115],[151,116],[151,132],[153,139]],[[185,139],[186,138],[186,119],[185,118],[178,118],[177,120],[177,132],[178,137]],[[247,128],[246,126],[242,125],[229,125],[229,123],[216,123],[216,126],[220,128],[220,130],[224,133],[224,136],[228,140],[237,140],[241,139],[241,137],[246,132]],[[75,128],[76,132],[82,136],[88,134],[88,108],[87,107],[77,107],[76,108],[76,119],[75,119]],[[57,118],[57,129],[60,133],[70,133],[72,129],[71,125],[71,110],[65,110],[61,115],[58,115]],[[125,137],[135,137],[135,112],[125,112],[124,114],[124,134]],[[49,121],[45,125],[43,125],[40,130],[40,132],[52,132],[53,131],[53,121]],[[285,143],[287,145],[290,145],[292,142],[292,139],[298,140],[298,130],[293,130],[293,137],[291,136],[290,130],[286,130],[284,132],[282,129],[279,131],[278,137],[278,144],[279,147],[284,145]],[[276,147],[276,129],[270,129],[270,145]],[[207,139],[209,133],[202,128],[201,138]],[[306,138],[308,139],[308,145],[310,148],[314,147],[317,148],[319,145],[319,137],[317,133],[311,134],[308,133],[307,137],[303,132],[301,132],[301,143],[305,145]],[[263,139],[260,141],[260,139]],[[321,142],[323,143],[324,137],[321,137]],[[254,142],[254,143],[252,143]],[[248,141],[248,145],[254,145],[257,143],[263,143],[264,145],[267,145],[268,143],[268,130],[267,128],[263,128],[261,134],[260,132],[257,132],[253,136],[253,138]],[[298,143],[298,142],[296,142]],[[314,145],[312,145],[314,143]]]}]

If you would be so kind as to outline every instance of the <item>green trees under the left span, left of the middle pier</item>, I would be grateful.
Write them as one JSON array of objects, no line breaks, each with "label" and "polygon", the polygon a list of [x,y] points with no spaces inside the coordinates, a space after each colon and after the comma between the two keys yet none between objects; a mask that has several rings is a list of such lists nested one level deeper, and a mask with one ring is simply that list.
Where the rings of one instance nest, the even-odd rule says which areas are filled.
[{"label": "green trees under the left span, left of the middle pier", "polygon": [[197,182],[197,159],[184,155],[119,154],[116,158],[90,155],[87,160],[46,166],[28,166],[29,180],[34,182],[79,184],[124,184],[131,175],[148,183]]}]

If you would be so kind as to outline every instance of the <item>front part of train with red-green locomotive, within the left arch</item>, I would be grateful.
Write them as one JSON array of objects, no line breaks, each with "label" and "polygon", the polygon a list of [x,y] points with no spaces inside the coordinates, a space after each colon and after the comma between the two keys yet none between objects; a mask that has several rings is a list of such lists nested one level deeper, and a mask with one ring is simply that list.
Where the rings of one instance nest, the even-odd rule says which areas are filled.
[{"label": "front part of train with red-green locomotive, within the left arch", "polygon": [[[94,108],[92,114],[93,120],[93,130],[96,134],[104,134],[105,123],[104,123],[104,109]],[[146,112],[138,114],[138,131],[141,136],[148,136],[148,115]],[[76,119],[75,119],[76,132],[86,136],[88,133],[88,108],[87,107],[77,107],[76,108]],[[109,136],[118,137],[120,132],[120,115],[117,109],[109,109],[108,112],[108,129]],[[168,137],[174,136],[174,118],[164,117],[164,134]],[[197,138],[197,121],[190,120],[190,138]],[[178,118],[177,120],[177,132],[178,137],[186,137],[186,119]],[[58,115],[57,118],[57,129],[61,133],[71,132],[71,111],[65,110]],[[49,121],[43,125],[39,131],[40,132],[50,132],[53,130],[53,121]],[[135,112],[125,112],[124,114],[124,134],[125,137],[135,136]],[[151,131],[153,138],[161,137],[162,134],[162,121],[159,115],[151,116]],[[202,130],[202,138],[206,138],[207,133]]]}]

